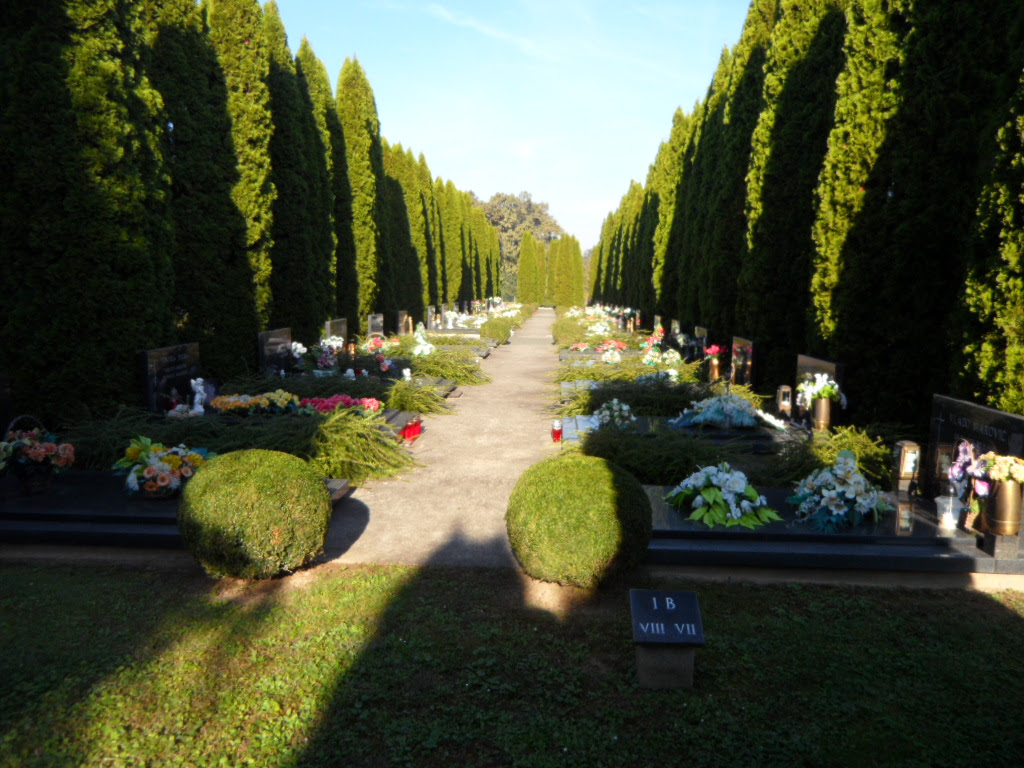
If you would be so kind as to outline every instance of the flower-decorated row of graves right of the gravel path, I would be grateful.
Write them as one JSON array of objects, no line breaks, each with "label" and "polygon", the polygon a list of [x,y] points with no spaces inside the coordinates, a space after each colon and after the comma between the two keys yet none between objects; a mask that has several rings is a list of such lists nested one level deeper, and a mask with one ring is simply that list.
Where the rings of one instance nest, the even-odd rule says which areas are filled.
[{"label": "flower-decorated row of graves right of the gravel path", "polygon": [[1024,420],[936,395],[927,435],[851,424],[842,365],[797,355],[790,381],[756,392],[752,340],[709,344],[707,329],[653,321],[591,306],[553,331],[553,437],[644,484],[650,554],[659,536],[833,537],[954,547],[1019,570]]}]

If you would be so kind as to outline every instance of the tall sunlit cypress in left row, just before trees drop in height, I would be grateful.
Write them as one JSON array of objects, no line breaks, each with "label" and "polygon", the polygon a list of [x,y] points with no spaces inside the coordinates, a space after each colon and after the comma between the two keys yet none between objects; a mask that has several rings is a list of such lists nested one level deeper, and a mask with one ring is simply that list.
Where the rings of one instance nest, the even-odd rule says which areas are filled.
[{"label": "tall sunlit cypress in left row, just before trees drop in height", "polygon": [[[374,312],[380,293],[381,231],[378,222],[379,185],[383,178],[383,155],[377,103],[370,81],[357,59],[346,58],[338,78],[338,115],[345,143],[348,182],[351,188],[351,242],[355,247],[357,318]],[[337,195],[336,195],[337,198]],[[336,221],[338,211],[335,212]],[[340,244],[347,241],[339,232]],[[339,254],[339,270],[341,268]],[[339,287],[343,284],[339,274]]]}]

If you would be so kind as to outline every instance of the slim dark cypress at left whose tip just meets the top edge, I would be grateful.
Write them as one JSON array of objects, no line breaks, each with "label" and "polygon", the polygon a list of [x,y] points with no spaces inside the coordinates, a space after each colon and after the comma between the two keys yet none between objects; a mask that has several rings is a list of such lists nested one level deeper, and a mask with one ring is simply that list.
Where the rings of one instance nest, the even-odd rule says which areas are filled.
[{"label": "slim dark cypress at left whose tip just meets the top edge", "polygon": [[[269,325],[291,327],[292,336],[306,344],[319,339],[324,322],[331,311],[329,290],[331,254],[314,253],[314,228],[327,222],[313,216],[324,214],[322,190],[326,173],[314,161],[323,162],[323,153],[314,153],[310,143],[316,133],[312,114],[303,101],[288,36],[278,4],[269,0],[263,8],[263,36],[269,56],[267,89],[273,133],[270,137],[271,180],[278,190],[272,207],[270,236]],[[307,157],[308,156],[308,157]],[[318,242],[321,247],[323,241]]]}]

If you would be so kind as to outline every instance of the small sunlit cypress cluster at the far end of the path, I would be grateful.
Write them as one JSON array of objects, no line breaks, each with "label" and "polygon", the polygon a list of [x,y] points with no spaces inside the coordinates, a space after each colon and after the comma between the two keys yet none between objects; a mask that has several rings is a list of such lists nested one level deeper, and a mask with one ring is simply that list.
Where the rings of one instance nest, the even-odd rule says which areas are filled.
[{"label": "small sunlit cypress cluster at the far end of the path", "polygon": [[571,234],[538,240],[527,229],[519,245],[516,298],[523,304],[559,307],[586,303],[583,249]]}]

